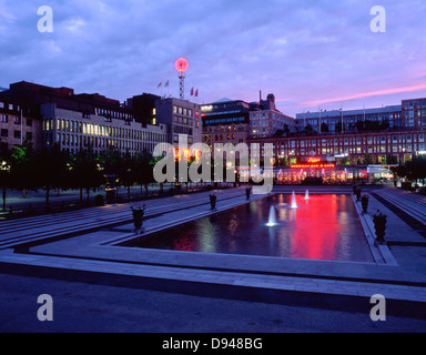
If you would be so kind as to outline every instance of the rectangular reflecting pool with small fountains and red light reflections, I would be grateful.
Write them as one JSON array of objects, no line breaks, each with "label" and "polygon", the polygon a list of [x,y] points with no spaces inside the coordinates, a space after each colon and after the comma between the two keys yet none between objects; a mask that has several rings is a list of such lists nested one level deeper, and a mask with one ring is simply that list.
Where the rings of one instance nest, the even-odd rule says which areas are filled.
[{"label": "rectangular reflecting pool with small fountains and red light reflections", "polygon": [[[273,195],[149,235],[143,248],[373,262],[351,195]],[[271,224],[271,207],[275,223]]]}]

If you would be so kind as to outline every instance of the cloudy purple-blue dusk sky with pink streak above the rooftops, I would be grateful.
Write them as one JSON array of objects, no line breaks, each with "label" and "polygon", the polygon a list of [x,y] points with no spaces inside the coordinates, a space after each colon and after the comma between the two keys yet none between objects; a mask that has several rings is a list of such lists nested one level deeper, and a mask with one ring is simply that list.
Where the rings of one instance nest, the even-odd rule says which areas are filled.
[{"label": "cloudy purple-blue dusk sky with pink streak above the rooftops", "polygon": [[[41,6],[53,10],[52,33],[38,31]],[[386,10],[385,33],[371,30],[374,6]],[[199,103],[257,101],[262,90],[295,115],[426,97],[424,0],[0,0],[0,33],[3,88],[179,97],[184,57],[186,99]]]}]

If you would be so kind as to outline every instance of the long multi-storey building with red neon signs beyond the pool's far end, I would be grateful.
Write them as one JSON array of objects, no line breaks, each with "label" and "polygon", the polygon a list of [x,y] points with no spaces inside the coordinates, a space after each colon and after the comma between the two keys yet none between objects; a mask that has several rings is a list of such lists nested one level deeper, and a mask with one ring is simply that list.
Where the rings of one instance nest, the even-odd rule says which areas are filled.
[{"label": "long multi-storey building with red neon signs beyond the pool's far end", "polygon": [[[425,113],[426,99],[378,109],[306,112],[296,115],[296,133],[252,136],[248,142],[253,154],[272,159],[277,182],[388,179],[390,166],[426,155]],[[272,156],[266,144],[273,146]]]}]

